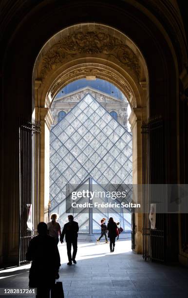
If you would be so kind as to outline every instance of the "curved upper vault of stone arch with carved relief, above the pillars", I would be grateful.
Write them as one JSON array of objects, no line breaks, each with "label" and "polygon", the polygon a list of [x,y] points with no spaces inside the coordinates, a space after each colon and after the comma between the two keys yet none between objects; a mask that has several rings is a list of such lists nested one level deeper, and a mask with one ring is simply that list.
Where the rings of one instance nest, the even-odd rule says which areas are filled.
[{"label": "curved upper vault of stone arch with carved relief, above the pillars", "polygon": [[142,83],[148,84],[145,60],[132,40],[96,23],[74,25],[50,38],[38,55],[34,75],[41,80],[42,97],[48,97],[47,107],[60,88],[87,75],[112,82],[132,107],[141,106]]}]

